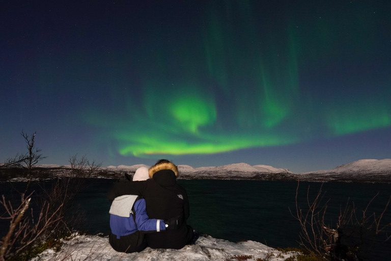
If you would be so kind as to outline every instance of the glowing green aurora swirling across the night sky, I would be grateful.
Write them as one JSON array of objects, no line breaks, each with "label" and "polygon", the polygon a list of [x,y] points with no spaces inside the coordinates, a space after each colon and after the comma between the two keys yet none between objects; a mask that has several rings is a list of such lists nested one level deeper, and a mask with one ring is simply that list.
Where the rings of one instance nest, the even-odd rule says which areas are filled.
[{"label": "glowing green aurora swirling across the night sky", "polygon": [[209,4],[192,31],[197,37],[166,37],[180,41],[175,50],[161,39],[133,50],[143,56],[123,50],[120,64],[143,59],[132,65],[138,82],[111,84],[116,103],[99,113],[89,108],[83,121],[104,129],[121,155],[147,158],[284,146],[391,125],[391,81],[368,82],[349,68],[365,67],[381,33],[366,4],[348,18],[332,9],[322,11],[325,19],[300,18],[293,8],[285,20],[260,17],[254,5]]}]

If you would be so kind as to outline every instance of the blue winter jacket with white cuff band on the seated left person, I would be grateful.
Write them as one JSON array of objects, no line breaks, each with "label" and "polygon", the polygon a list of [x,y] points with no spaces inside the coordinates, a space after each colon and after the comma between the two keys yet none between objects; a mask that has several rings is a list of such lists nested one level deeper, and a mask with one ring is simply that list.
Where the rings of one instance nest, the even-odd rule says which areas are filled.
[{"label": "blue winter jacket with white cuff band on the seated left person", "polygon": [[119,239],[121,236],[127,236],[137,230],[146,232],[159,232],[165,230],[163,220],[149,219],[145,206],[145,199],[139,199],[134,202],[134,210],[136,212],[135,223],[132,214],[130,214],[130,217],[128,218],[110,214],[111,233],[115,234],[117,239]]}]

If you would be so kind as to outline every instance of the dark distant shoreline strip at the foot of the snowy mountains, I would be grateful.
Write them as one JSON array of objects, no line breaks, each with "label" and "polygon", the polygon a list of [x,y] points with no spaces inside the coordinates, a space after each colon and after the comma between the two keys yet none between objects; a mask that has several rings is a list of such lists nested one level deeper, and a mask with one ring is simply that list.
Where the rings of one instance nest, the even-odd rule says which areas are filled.
[{"label": "dark distant shoreline strip at the foot of the snowy mountains", "polygon": [[[44,181],[54,178],[72,177],[69,167],[36,167],[35,175],[32,180]],[[132,169],[121,168],[100,168],[96,173],[90,176],[73,176],[79,178],[107,178],[121,179],[124,174],[133,174]],[[356,172],[328,172],[328,173],[269,173],[252,172],[239,170],[204,170],[184,172],[180,170],[178,179],[217,179],[217,180],[281,180],[281,181],[309,181],[309,182],[350,182],[367,184],[391,184],[391,172],[382,171],[377,173],[356,173]],[[0,182],[27,182],[25,169],[23,168],[4,168],[1,170]]]}]

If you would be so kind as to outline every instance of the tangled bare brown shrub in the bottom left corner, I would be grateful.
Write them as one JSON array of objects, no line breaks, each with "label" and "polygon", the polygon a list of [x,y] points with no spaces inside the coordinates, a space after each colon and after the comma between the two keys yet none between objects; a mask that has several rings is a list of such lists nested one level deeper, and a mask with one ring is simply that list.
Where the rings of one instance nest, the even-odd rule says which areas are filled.
[{"label": "tangled bare brown shrub in the bottom left corner", "polygon": [[80,228],[85,215],[74,208],[74,200],[85,185],[85,179],[57,178],[49,189],[41,186],[39,195],[32,192],[24,197],[21,193],[16,206],[3,195],[0,207],[5,213],[0,218],[9,219],[10,228],[0,241],[0,261],[24,260],[37,253],[37,247],[42,251],[53,245],[50,242]]}]

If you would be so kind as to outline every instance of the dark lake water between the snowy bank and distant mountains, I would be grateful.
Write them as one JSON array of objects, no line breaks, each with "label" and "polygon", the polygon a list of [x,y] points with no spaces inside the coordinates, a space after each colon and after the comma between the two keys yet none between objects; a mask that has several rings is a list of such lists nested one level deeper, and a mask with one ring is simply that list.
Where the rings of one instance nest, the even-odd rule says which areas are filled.
[{"label": "dark lake water between the snowy bank and distant mountains", "polygon": [[[115,180],[110,179],[91,179],[89,186],[76,199],[76,204],[86,211],[87,222],[83,230],[89,230],[90,233],[110,231],[110,202],[106,193],[114,182]],[[193,229],[233,242],[254,240],[271,247],[299,246],[297,241],[300,226],[289,212],[289,208],[295,211],[297,182],[210,179],[178,182],[186,189],[189,197],[188,224]],[[19,185],[14,184],[16,187]],[[314,198],[321,183],[300,182],[298,202],[302,208],[306,205],[309,186],[309,196]],[[3,184],[0,188],[2,192],[9,191],[9,185]],[[330,199],[327,208],[330,215],[326,220],[334,224],[338,217],[336,214],[341,206],[346,205],[349,197],[357,207],[359,215],[378,192],[379,195],[371,203],[368,214],[380,214],[391,194],[390,188],[387,184],[325,183],[322,189],[325,192],[324,198]],[[391,222],[391,206],[388,207],[383,221]],[[388,228],[388,235],[391,234],[390,230],[391,228]],[[374,249],[373,254],[373,260],[388,260],[391,256],[391,240],[381,243]]]}]

